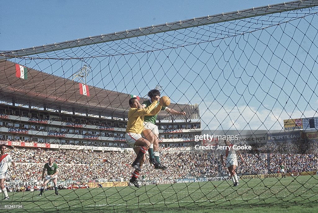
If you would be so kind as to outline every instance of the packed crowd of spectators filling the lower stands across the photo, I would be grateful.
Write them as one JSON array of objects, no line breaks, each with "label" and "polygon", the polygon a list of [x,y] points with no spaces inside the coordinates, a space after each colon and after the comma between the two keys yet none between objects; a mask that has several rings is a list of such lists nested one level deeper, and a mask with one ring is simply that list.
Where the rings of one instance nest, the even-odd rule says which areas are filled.
[{"label": "packed crowd of spectators filling the lower stands across the photo", "polygon": [[[317,171],[317,144],[312,144],[315,153],[295,154],[286,152],[286,144],[258,145],[253,147],[255,153],[242,151],[246,164],[238,159],[237,173],[243,175],[260,175],[279,173],[280,164],[283,163],[287,172]],[[297,144],[290,145],[290,150],[297,150]],[[268,148],[270,151],[268,151]],[[279,153],[284,150],[285,152]],[[294,151],[293,150],[293,151]],[[10,151],[13,160],[17,162],[16,170],[12,176],[16,181],[39,180],[44,163],[48,156],[59,164],[59,180],[94,180],[94,179],[125,179],[131,176],[131,163],[135,159],[132,150],[118,151],[91,151],[91,150],[53,150],[53,149],[18,149]],[[148,154],[147,154],[148,155]],[[146,157],[148,159],[148,156]],[[154,170],[150,163],[145,163],[141,175],[149,179],[170,177],[199,177],[218,176],[220,156],[216,151],[180,151],[161,152],[162,164],[168,166],[167,170]],[[148,160],[146,160],[148,162]]]}]

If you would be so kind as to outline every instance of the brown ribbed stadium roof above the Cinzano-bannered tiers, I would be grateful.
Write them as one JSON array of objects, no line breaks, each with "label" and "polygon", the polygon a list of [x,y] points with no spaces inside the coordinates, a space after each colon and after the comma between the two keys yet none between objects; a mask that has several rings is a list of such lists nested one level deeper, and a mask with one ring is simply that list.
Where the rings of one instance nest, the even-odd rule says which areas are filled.
[{"label": "brown ribbed stadium roof above the Cinzano-bannered tiers", "polygon": [[[28,79],[16,77],[15,63],[0,60],[0,100],[10,103],[74,111],[83,114],[127,118],[129,94],[90,86],[90,96],[79,94],[79,83],[28,69]],[[199,119],[198,105],[171,103],[169,108],[183,110],[187,119]],[[158,120],[184,120],[184,116],[161,111]]]}]

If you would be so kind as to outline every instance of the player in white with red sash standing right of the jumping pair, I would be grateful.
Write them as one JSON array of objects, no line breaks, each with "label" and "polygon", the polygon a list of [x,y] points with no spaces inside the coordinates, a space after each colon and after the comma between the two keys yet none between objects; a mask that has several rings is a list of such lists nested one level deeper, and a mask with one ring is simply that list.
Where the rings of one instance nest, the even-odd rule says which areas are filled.
[{"label": "player in white with red sash standing right of the jumping pair", "polygon": [[[226,149],[222,150],[221,152],[221,162],[222,162],[222,165],[224,167],[227,167],[227,169],[229,170],[231,179],[233,182],[233,186],[238,186],[239,179],[235,172],[236,167],[238,166],[238,159],[237,159],[236,153],[239,154],[239,156],[241,157],[242,163],[245,163],[245,162],[241,152],[239,150],[235,150],[233,148],[233,144],[231,144],[230,141],[224,140],[224,143],[225,143]],[[226,163],[224,162],[223,156],[226,156]]]}]

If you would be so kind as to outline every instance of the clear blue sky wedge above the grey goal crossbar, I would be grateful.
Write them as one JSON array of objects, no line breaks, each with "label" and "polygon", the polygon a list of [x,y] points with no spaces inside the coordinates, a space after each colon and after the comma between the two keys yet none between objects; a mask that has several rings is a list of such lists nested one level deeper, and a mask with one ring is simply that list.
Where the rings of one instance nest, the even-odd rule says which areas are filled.
[{"label": "clear blue sky wedge above the grey goal crossbar", "polygon": [[282,1],[2,0],[0,50],[18,50],[276,3]]}]

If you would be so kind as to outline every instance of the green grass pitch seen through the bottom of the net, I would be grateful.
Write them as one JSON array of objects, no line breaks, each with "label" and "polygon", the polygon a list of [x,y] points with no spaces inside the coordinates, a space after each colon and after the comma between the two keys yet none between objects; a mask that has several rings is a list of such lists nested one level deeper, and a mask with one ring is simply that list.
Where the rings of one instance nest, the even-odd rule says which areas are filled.
[{"label": "green grass pitch seen through the bottom of the net", "polygon": [[[0,212],[318,212],[318,176],[9,193]],[[230,185],[231,184],[231,185]],[[23,208],[5,209],[4,205]]]}]

